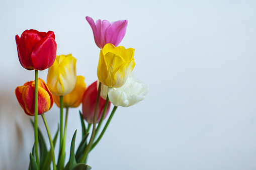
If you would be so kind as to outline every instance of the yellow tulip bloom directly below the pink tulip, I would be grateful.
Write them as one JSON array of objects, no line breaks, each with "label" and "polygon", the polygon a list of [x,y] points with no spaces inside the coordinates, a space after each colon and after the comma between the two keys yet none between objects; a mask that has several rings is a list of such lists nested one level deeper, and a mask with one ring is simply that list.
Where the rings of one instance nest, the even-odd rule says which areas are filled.
[{"label": "yellow tulip bloom directly below the pink tulip", "polygon": [[134,50],[106,44],[101,49],[97,69],[100,82],[108,87],[122,87],[135,66]]}]

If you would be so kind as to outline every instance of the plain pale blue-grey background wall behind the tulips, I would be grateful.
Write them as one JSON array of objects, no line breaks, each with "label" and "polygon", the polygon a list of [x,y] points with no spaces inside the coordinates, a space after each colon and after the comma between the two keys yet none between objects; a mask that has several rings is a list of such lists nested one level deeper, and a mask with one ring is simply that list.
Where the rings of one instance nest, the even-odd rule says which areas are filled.
[{"label": "plain pale blue-grey background wall behind the tulips", "polygon": [[[34,141],[14,92],[34,72],[20,65],[15,35],[54,31],[57,55],[72,53],[90,85],[100,50],[86,16],[128,20],[120,45],[136,49],[133,73],[150,89],[118,108],[90,154],[93,169],[256,169],[255,9],[255,1],[1,1],[0,169],[27,169]],[[81,139],[80,108],[69,113],[67,157],[75,129],[76,147]],[[57,106],[45,115],[54,134]],[[41,117],[39,126],[47,139]]]}]

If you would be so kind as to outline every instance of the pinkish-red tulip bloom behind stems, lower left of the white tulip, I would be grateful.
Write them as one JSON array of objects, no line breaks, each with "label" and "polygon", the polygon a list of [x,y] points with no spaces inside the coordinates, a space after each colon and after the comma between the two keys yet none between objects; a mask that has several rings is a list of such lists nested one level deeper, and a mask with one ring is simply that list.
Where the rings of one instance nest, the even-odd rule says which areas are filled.
[{"label": "pinkish-red tulip bloom behind stems, lower left of the white tulip", "polygon": [[[97,93],[98,93],[97,81],[95,81],[93,84],[91,84],[87,88],[86,93],[84,93],[84,96],[82,99],[83,118],[86,119],[86,121],[91,124],[94,122],[94,112],[95,112]],[[106,102],[106,100],[104,100],[102,97],[100,97],[97,123],[100,122],[101,116],[103,114],[105,102]],[[107,117],[107,115],[109,113],[109,109],[110,109],[110,102],[108,103],[107,112],[106,112],[104,118]]]}]

